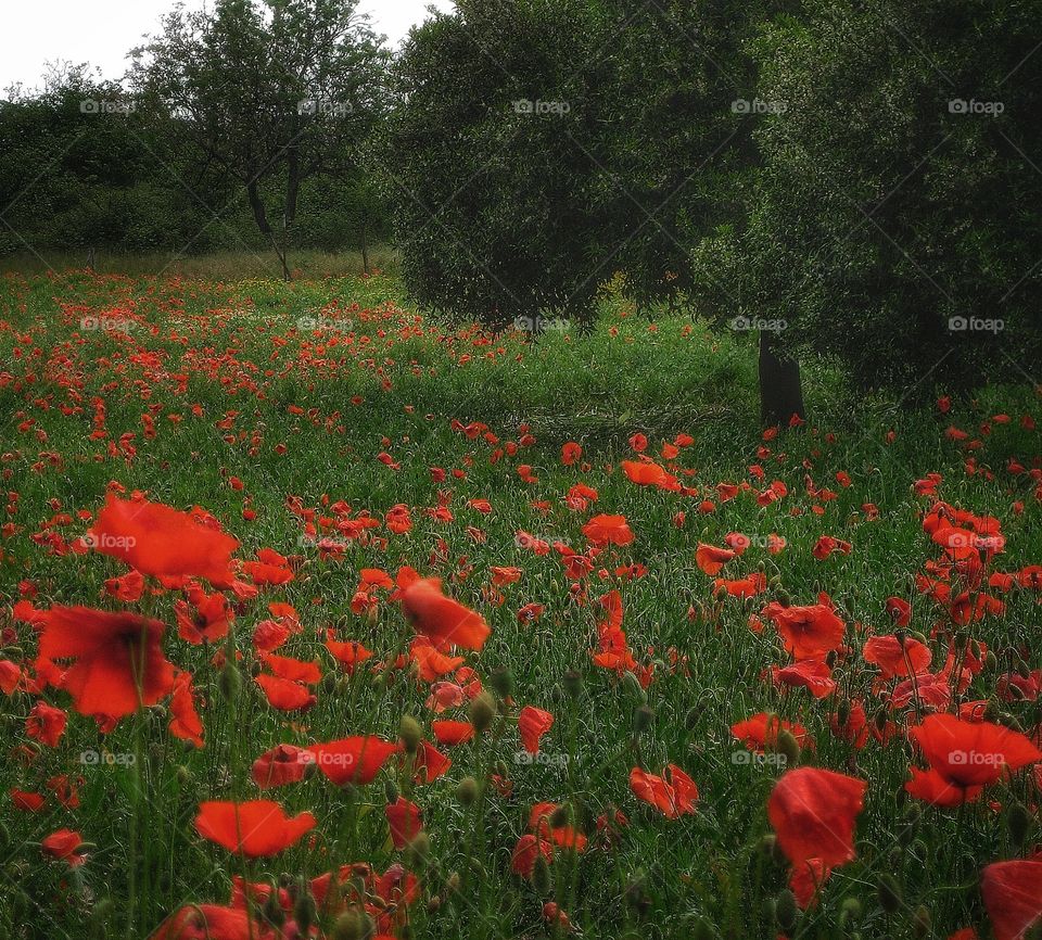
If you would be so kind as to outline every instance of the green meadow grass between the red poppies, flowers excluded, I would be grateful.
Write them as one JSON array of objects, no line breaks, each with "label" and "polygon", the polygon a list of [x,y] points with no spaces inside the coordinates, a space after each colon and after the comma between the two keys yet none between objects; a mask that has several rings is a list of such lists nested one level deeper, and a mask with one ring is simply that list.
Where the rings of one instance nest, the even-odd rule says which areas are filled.
[{"label": "green meadow grass between the red poppies, flowers excluded", "polygon": [[[969,925],[987,935],[977,879],[983,865],[1016,853],[1005,810],[993,812],[987,801],[957,811],[926,808],[914,838],[899,847],[910,747],[899,739],[887,747],[872,741],[855,751],[829,732],[831,700],[817,702],[803,690],[783,694],[764,683],[763,671],[784,663],[785,653],[770,626],[761,634],[749,628],[749,617],[767,600],[787,595],[809,604],[818,592],[828,592],[848,623],[847,643],[853,648],[840,666],[841,696],[863,699],[869,715],[878,702],[873,674],[857,655],[863,640],[857,631],[889,630],[888,597],[914,599],[912,630],[928,639],[933,668],[940,668],[946,642],[943,631],[936,638],[931,632],[943,626],[944,612],[914,590],[915,574],[938,550],[920,526],[930,500],[916,496],[913,483],[928,472],[941,473],[941,498],[1000,518],[1007,546],[996,560],[999,569],[1014,571],[1042,560],[1032,481],[1007,471],[1011,458],[1039,466],[1038,433],[1019,423],[1027,414],[1042,418],[1033,390],[990,388],[975,401],[956,403],[944,417],[897,398],[857,401],[827,364],[808,363],[811,422],[765,443],[748,338],[712,334],[683,318],[650,325],[613,296],[606,297],[603,316],[587,336],[554,332],[537,342],[516,333],[488,336],[425,318],[389,277],[284,284],[221,280],[223,269],[223,264],[183,268],[180,278],[139,275],[138,269],[132,277],[9,272],[0,279],[5,416],[0,472],[4,490],[17,494],[16,500],[9,496],[3,520],[14,531],[0,541],[4,617],[23,581],[36,585],[35,604],[41,608],[52,602],[118,607],[102,596],[102,584],[125,567],[98,554],[64,550],[88,525],[77,513],[97,512],[111,482],[181,509],[206,508],[241,541],[237,557],[252,558],[264,547],[298,556],[293,582],[262,589],[256,601],[239,605],[233,635],[243,655],[244,682],[232,701],[218,687],[213,650],[177,637],[173,605],[178,593],[147,595],[140,605],[170,625],[167,656],[193,673],[205,699],[202,750],[187,750],[167,734],[162,706],[124,720],[105,736],[69,709],[60,747],[41,748],[25,734],[33,699],[25,694],[2,699],[5,751],[28,747],[34,759],[5,761],[0,791],[43,792],[45,782],[61,774],[82,782],[75,810],[51,800],[40,814],[15,812],[0,796],[5,801],[0,871],[9,886],[0,893],[0,936],[147,937],[182,904],[226,903],[230,877],[243,866],[194,833],[200,801],[256,798],[250,764],[279,742],[350,734],[393,738],[404,714],[428,726],[429,689],[405,675],[385,684],[366,669],[341,674],[319,687],[314,709],[293,715],[275,712],[250,682],[251,636],[271,600],[294,605],[305,626],[282,653],[317,658],[323,672],[336,676],[317,636],[333,627],[340,638],[372,649],[373,661],[391,656],[411,635],[399,607],[384,600],[368,618],[353,614],[350,604],[359,569],[378,567],[393,576],[403,564],[443,577],[447,593],[488,621],[491,639],[468,657],[480,677],[507,669],[516,686],[514,708],[532,704],[556,715],[543,741],[543,763],[517,761],[517,731],[507,721],[495,734],[448,749],[453,766],[445,777],[415,790],[396,779],[422,808],[431,838],[421,898],[409,909],[409,936],[552,936],[541,914],[547,898],[510,874],[510,853],[526,829],[531,806],[554,801],[568,804],[577,825],[592,834],[593,822],[610,806],[630,820],[614,846],[592,847],[575,859],[561,852],[550,866],[548,898],[583,936],[687,937],[695,922],[706,918],[713,936],[776,937],[765,904],[785,887],[786,867],[761,843],[770,831],[764,803],[780,772],[770,764],[734,763],[740,746],[729,735],[733,723],[760,711],[777,711],[808,727],[816,748],[804,753],[805,762],[869,782],[857,860],[836,871],[819,904],[790,936],[848,936],[849,928],[840,926],[848,898],[861,902],[857,929],[866,938],[913,936],[920,905],[932,916],[932,936]],[[350,319],[350,327],[320,332],[297,327],[301,317],[332,321],[338,316]],[[123,334],[105,333],[82,328],[85,317],[130,325]],[[356,396],[360,401],[353,403]],[[102,415],[99,404],[103,419],[96,419]],[[294,414],[292,406],[305,414]],[[154,436],[144,433],[147,412]],[[231,412],[230,430],[217,428]],[[990,433],[979,434],[979,424],[999,412],[1013,421],[991,423]],[[470,440],[454,430],[454,421],[482,422],[499,443],[481,435]],[[944,436],[950,423],[979,437],[973,456],[993,474],[966,472],[969,452]],[[91,437],[99,427],[104,436]],[[635,432],[649,439],[649,455],[675,463],[674,472],[697,487],[698,496],[641,488],[625,479],[619,461],[633,457],[628,439]],[[675,461],[659,457],[662,444],[679,432],[690,434],[694,444]],[[534,441],[514,456],[490,459],[497,447],[524,434]],[[132,436],[120,448],[123,435]],[[560,448],[568,441],[583,446],[588,469],[562,466]],[[116,445],[115,454],[110,445]],[[384,452],[401,469],[377,459]],[[520,465],[533,468],[536,483],[520,479]],[[762,481],[751,475],[753,465],[763,468]],[[449,472],[446,482],[432,480],[432,467]],[[454,478],[454,469],[466,475]],[[838,471],[850,474],[849,487],[836,482]],[[230,477],[243,481],[243,492],[229,486]],[[808,478],[836,491],[837,498],[811,496]],[[784,481],[789,495],[771,506],[758,506],[755,491],[728,503],[715,496],[721,482],[750,481],[762,490],[773,480]],[[563,501],[579,482],[598,494],[585,510]],[[353,512],[368,510],[380,519],[405,504],[414,528],[404,535],[377,530],[380,539],[351,542],[341,560],[323,560],[314,546],[302,544],[300,520],[287,508],[290,497],[319,513],[344,500]],[[714,512],[699,511],[703,497],[714,500]],[[491,515],[468,506],[476,498],[491,501]],[[539,501],[547,506],[533,505]],[[1015,501],[1024,503],[1022,511],[1014,511]],[[877,520],[865,512],[868,503],[878,507]],[[452,521],[428,511],[439,505],[448,506]],[[245,506],[256,512],[253,521],[243,518]],[[675,523],[679,511],[686,513],[683,526]],[[624,515],[636,537],[597,558],[579,589],[570,586],[556,551],[537,557],[518,544],[516,534],[524,530],[583,551],[582,526],[596,512]],[[65,518],[55,519],[62,513]],[[732,531],[755,538],[778,533],[788,542],[778,556],[753,547],[725,569],[732,577],[758,568],[766,573],[770,590],[754,601],[714,598],[712,579],[695,563],[699,542],[721,545]],[[812,549],[826,533],[850,541],[853,551],[815,560]],[[647,574],[624,582],[612,573],[632,562],[647,566]],[[513,564],[523,576],[503,588],[503,602],[496,604],[490,569]],[[623,598],[623,627],[635,656],[655,664],[647,690],[590,661],[602,613],[596,601],[613,588]],[[999,662],[963,698],[994,698],[1011,649],[1031,669],[1040,665],[1037,595],[1022,590],[1005,599],[1005,617],[970,628]],[[516,611],[531,601],[545,605],[542,620],[519,624]],[[15,631],[5,634],[0,659],[31,663],[33,631],[24,623],[0,625]],[[682,665],[673,669],[676,659]],[[564,688],[572,671],[583,676],[577,699]],[[68,697],[54,689],[45,698],[68,706]],[[635,745],[634,713],[645,702],[653,720]],[[1040,721],[1037,702],[1002,703],[1001,710],[1015,714],[1025,728]],[[77,762],[81,751],[102,747],[137,753],[140,760],[132,768]],[[653,773],[670,762],[682,766],[701,791],[698,812],[669,821],[638,803],[627,786],[638,762]],[[509,776],[512,792],[490,790],[476,811],[460,805],[458,782],[485,780],[490,770]],[[399,861],[382,812],[381,782],[392,777],[385,770],[381,780],[355,791],[308,778],[266,792],[293,812],[314,812],[320,840],[315,850],[301,843],[253,863],[250,877],[312,878],[352,862],[383,871]],[[1029,805],[1038,800],[1024,775],[990,788],[989,796],[1006,808],[1015,800]],[[93,843],[87,863],[72,874],[45,861],[37,846],[62,827]],[[903,904],[892,915],[876,899],[875,885],[885,872],[903,889]]]}]

